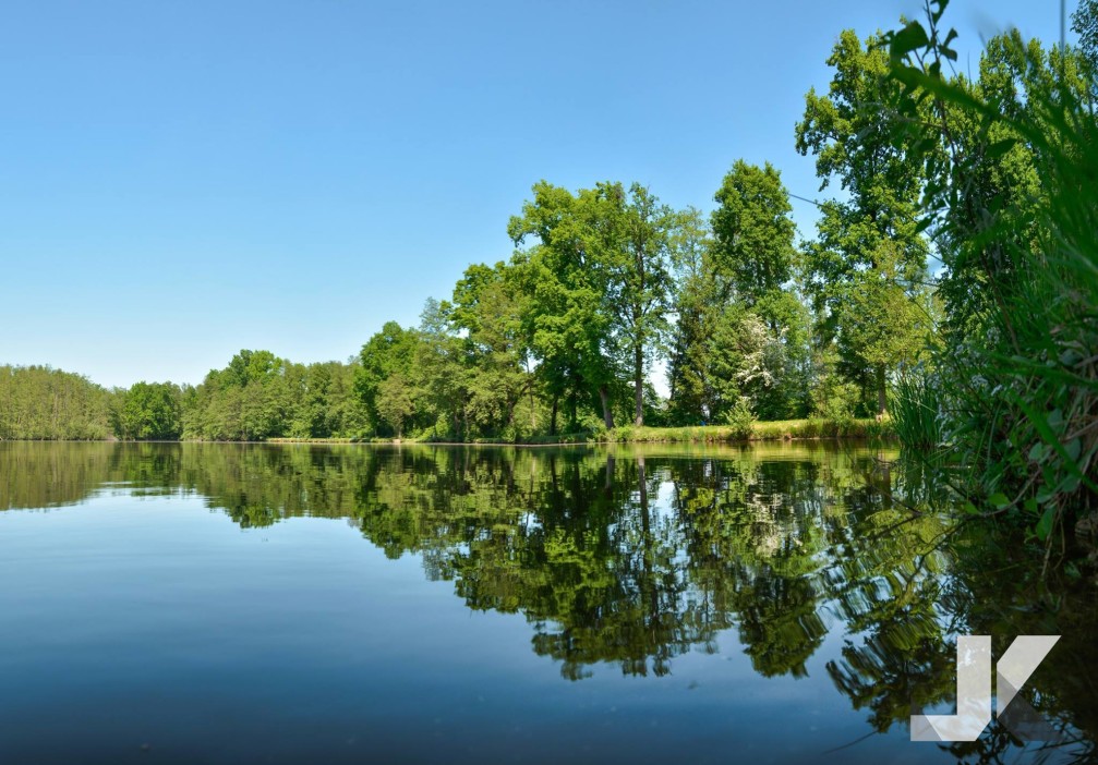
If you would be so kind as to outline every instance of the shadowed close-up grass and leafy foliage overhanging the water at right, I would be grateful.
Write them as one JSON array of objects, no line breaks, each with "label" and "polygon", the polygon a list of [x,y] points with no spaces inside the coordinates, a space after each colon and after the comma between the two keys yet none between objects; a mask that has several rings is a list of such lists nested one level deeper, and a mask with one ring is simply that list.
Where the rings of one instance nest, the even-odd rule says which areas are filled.
[{"label": "shadowed close-up grass and leafy foliage overhanging the water at right", "polygon": [[[949,79],[941,60],[955,34],[939,19],[923,47],[890,43],[898,109],[932,115],[905,139],[934,179],[928,223],[948,268],[946,311],[961,319],[935,359],[942,438],[956,483],[1051,541],[1098,496],[1094,68],[1009,34],[988,45],[979,82]],[[1040,188],[997,193],[1020,173]]]}]

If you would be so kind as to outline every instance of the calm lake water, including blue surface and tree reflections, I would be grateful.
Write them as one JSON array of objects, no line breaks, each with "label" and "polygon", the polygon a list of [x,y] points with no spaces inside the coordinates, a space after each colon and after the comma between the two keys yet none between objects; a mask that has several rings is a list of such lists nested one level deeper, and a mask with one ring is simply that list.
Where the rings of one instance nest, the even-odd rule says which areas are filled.
[{"label": "calm lake water, including blue surface and tree reflections", "polygon": [[[1091,756],[1094,586],[896,457],[0,443],[0,763]],[[909,741],[967,633],[1064,742]]]}]

